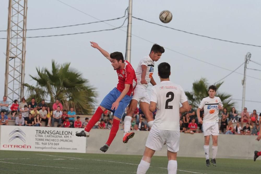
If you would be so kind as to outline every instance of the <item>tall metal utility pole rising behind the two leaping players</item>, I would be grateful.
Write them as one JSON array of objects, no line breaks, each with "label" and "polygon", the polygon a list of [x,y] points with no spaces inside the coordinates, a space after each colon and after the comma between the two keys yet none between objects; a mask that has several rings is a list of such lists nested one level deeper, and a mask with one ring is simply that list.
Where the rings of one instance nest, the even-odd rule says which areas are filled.
[{"label": "tall metal utility pole rising behind the two leaping players", "polygon": [[126,58],[125,59],[130,63],[131,63],[131,27],[132,27],[132,0],[129,0],[127,45],[126,45]]}]

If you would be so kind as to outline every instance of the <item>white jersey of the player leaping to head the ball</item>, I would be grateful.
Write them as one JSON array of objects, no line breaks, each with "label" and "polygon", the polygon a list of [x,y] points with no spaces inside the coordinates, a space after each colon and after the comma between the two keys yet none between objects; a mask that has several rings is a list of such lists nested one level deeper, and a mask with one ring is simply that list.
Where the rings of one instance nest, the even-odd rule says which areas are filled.
[{"label": "white jersey of the player leaping to head the ball", "polygon": [[142,69],[141,69],[141,65],[146,65],[147,66],[147,72],[146,72],[146,76],[145,76],[145,80],[147,81],[147,83],[150,83],[150,79],[153,75],[154,72],[154,61],[150,58],[150,56],[146,56],[143,59],[140,60],[138,67],[135,71],[136,73],[136,77],[137,77],[137,84],[138,85],[143,85],[144,87],[148,87],[148,84],[141,84],[141,73],[142,73]]}]

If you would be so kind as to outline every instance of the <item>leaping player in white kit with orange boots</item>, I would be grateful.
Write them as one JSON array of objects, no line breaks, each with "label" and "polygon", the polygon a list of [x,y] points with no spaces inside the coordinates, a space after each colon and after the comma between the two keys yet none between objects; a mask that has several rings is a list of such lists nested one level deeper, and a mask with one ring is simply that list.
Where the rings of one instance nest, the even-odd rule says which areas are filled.
[{"label": "leaping player in white kit with orange boots", "polygon": [[124,133],[123,133],[123,143],[127,143],[130,138],[134,136],[134,132],[130,133],[131,129],[131,118],[134,115],[134,112],[139,103],[141,111],[144,113],[149,127],[152,127],[153,124],[153,114],[149,110],[150,97],[147,92],[148,83],[151,83],[153,86],[156,85],[152,75],[154,72],[154,62],[157,62],[162,53],[165,50],[162,46],[154,44],[151,48],[150,54],[140,60],[138,67],[135,71],[137,77],[137,85],[134,89],[134,94],[132,100],[129,104],[129,109],[124,117]]}]

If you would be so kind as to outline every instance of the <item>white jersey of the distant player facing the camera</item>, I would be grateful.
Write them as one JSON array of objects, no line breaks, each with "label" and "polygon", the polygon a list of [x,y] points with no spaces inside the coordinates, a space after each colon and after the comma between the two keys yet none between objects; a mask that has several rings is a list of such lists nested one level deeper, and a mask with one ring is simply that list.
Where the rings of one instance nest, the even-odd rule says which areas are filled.
[{"label": "white jersey of the distant player facing the camera", "polygon": [[204,107],[203,123],[218,122],[218,105],[223,107],[219,97],[206,97],[200,102],[199,108],[202,109]]}]

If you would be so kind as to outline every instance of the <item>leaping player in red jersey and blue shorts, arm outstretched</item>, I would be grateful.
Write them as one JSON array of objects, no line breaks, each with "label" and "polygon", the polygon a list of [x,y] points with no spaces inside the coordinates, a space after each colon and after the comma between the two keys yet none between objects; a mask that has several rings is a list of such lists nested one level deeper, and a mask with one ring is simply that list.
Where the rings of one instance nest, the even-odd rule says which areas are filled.
[{"label": "leaping player in red jersey and blue shorts, arm outstretched", "polygon": [[117,72],[118,84],[117,87],[112,89],[102,100],[102,103],[92,116],[85,129],[79,133],[76,133],[76,136],[89,137],[90,130],[95,125],[95,123],[99,121],[102,113],[105,110],[111,111],[114,113],[113,125],[106,144],[100,148],[101,151],[106,152],[116,136],[125,108],[129,105],[132,99],[132,95],[134,94],[133,91],[137,84],[137,78],[132,65],[128,61],[124,61],[124,57],[121,52],[113,52],[109,54],[107,51],[99,47],[99,45],[95,42],[91,42],[91,46],[98,49],[103,54],[103,56],[105,56],[111,62],[112,67]]}]

